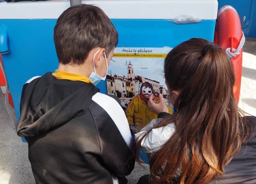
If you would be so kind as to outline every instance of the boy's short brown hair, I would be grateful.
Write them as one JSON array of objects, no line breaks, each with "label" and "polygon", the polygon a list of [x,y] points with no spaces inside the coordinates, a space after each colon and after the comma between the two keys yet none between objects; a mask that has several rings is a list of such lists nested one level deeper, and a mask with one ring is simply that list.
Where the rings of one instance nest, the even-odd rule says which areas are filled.
[{"label": "boy's short brown hair", "polygon": [[99,7],[80,4],[65,10],[54,27],[59,63],[80,65],[96,47],[110,51],[118,43],[116,28]]}]

